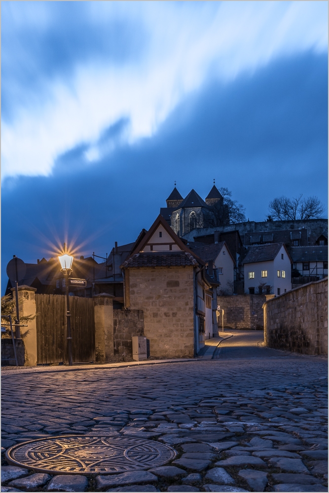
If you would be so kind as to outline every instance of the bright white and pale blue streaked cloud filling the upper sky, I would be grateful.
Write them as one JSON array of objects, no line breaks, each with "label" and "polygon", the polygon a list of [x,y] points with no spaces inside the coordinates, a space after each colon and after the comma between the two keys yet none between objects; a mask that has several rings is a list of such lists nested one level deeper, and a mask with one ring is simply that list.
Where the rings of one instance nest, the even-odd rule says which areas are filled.
[{"label": "bright white and pale blue streaked cloud filling the upper sky", "polygon": [[[94,163],[156,134],[210,79],[327,49],[327,2],[2,2],[2,176]],[[120,139],[102,134],[129,121]]]}]

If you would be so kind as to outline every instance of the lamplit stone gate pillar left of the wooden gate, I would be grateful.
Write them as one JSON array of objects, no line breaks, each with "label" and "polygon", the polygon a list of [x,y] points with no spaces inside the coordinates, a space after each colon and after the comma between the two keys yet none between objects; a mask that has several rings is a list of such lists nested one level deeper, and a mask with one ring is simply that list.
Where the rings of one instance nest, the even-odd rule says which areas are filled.
[{"label": "lamplit stone gate pillar left of the wooden gate", "polygon": [[[13,295],[15,288],[12,287]],[[18,286],[19,316],[36,315],[36,291],[35,287]],[[25,366],[37,365],[37,321],[36,318],[27,323],[27,327],[21,327],[21,338],[25,345]]]}]

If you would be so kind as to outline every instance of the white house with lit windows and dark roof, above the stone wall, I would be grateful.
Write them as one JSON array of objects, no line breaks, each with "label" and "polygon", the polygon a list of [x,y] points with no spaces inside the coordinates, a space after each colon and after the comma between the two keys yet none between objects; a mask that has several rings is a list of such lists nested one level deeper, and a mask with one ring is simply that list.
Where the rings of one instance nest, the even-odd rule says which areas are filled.
[{"label": "white house with lit windows and dark roof, above the stone wall", "polygon": [[292,288],[292,259],[283,243],[251,246],[243,261],[245,293],[280,295]]}]

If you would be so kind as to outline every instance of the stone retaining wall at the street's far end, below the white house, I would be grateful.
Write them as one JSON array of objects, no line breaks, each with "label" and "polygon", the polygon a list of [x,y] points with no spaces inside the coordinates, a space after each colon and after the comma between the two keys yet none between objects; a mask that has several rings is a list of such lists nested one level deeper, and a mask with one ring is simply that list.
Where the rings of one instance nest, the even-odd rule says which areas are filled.
[{"label": "stone retaining wall at the street's far end, below the white house", "polygon": [[[265,300],[265,295],[261,294],[217,296],[217,304],[224,309],[224,327],[262,330],[264,328],[262,306]],[[220,329],[221,313],[219,316]]]}]

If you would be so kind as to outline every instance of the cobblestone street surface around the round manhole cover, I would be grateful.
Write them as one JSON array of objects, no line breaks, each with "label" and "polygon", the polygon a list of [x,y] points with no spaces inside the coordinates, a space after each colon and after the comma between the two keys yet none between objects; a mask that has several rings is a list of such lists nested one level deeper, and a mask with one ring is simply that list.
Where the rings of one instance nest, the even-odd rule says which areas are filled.
[{"label": "cobblestone street surface around the round manhole cover", "polygon": [[211,360],[3,372],[4,449],[104,433],[160,441],[178,456],[97,477],[51,477],[2,459],[1,491],[328,491],[327,359],[264,348],[261,332],[230,333]]}]

